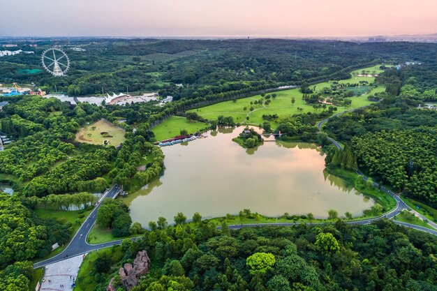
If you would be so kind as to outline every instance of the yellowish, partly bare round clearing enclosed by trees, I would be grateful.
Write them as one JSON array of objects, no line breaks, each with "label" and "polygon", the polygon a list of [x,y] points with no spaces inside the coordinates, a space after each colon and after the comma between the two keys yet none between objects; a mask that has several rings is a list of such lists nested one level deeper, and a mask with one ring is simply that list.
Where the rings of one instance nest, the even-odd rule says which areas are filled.
[{"label": "yellowish, partly bare round clearing enclosed by trees", "polygon": [[76,133],[76,140],[87,144],[103,144],[104,140],[108,140],[109,144],[117,146],[124,142],[124,130],[101,119],[81,128]]}]

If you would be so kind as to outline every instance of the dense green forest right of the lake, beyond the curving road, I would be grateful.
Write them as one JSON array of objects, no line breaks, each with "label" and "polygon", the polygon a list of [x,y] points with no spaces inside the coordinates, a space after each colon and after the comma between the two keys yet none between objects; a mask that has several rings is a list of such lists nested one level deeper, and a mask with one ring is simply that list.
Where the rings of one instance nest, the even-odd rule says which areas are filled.
[{"label": "dense green forest right of the lake, beyond the curving road", "polygon": [[380,103],[335,117],[325,130],[350,145],[371,177],[436,207],[437,111],[420,107],[435,100],[434,73],[430,65],[387,70],[377,78],[387,88]]}]

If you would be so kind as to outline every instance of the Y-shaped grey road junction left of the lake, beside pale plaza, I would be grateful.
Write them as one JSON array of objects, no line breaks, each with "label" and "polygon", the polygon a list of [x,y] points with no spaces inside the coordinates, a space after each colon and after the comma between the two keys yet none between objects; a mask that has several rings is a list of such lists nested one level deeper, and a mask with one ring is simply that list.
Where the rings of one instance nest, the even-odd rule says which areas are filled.
[{"label": "Y-shaped grey road junction left of the lake, beside pale plaza", "polygon": [[104,198],[114,198],[121,191],[121,187],[118,185],[112,186],[110,190],[106,191],[104,195],[98,200],[97,206],[94,207],[93,211],[89,214],[84,223],[80,226],[79,230],[71,240],[70,244],[59,253],[59,255],[55,255],[53,258],[44,260],[42,262],[37,262],[34,264],[34,268],[43,267],[46,264],[51,264],[52,262],[58,262],[61,260],[65,260],[66,258],[74,257],[75,255],[80,255],[82,253],[88,253],[89,251],[94,251],[99,248],[106,248],[108,246],[113,246],[115,244],[121,244],[121,240],[119,241],[111,241],[104,244],[88,244],[87,243],[87,235],[91,230],[91,227],[96,222],[97,210],[101,206],[101,201]]}]

